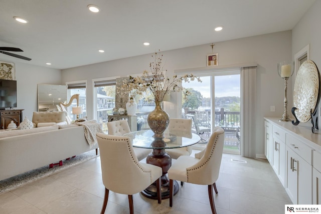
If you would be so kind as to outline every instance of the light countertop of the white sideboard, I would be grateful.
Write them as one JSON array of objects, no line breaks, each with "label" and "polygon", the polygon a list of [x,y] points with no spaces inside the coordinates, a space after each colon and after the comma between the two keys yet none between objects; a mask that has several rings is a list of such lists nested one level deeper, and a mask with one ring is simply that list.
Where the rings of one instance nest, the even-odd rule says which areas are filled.
[{"label": "light countertop of the white sideboard", "polygon": [[321,130],[315,129],[315,133],[312,133],[311,127],[307,126],[306,123],[299,123],[298,125],[293,125],[291,121],[289,122],[281,122],[279,118],[276,117],[264,117],[269,122],[286,129],[289,133],[296,135],[299,139],[304,142],[308,142],[308,145],[313,149],[321,152]]}]

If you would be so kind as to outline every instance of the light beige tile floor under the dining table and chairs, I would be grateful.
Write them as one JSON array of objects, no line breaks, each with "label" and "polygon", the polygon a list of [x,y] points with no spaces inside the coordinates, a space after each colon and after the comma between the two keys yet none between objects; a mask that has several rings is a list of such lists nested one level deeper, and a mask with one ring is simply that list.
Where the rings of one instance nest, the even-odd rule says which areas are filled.
[{"label": "light beige tile floor under the dining table and chairs", "polygon": [[[194,151],[195,152],[195,151]],[[192,154],[193,155],[193,154]],[[246,160],[247,163],[231,161]],[[219,214],[284,213],[289,204],[283,186],[263,159],[223,154],[215,195]],[[100,158],[94,158],[43,179],[0,194],[0,213],[100,213],[104,197]],[[140,193],[133,195],[135,213],[211,213],[207,186],[185,183],[174,196],[158,204]],[[111,192],[106,212],[129,213],[127,195]]]}]

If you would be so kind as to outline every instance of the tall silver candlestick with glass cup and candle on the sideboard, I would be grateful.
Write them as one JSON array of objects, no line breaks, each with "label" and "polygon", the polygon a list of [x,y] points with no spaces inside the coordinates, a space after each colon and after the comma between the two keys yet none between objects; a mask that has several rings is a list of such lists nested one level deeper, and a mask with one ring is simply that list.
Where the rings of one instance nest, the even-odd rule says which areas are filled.
[{"label": "tall silver candlestick with glass cup and candle on the sideboard", "polygon": [[284,79],[284,113],[282,115],[282,118],[279,119],[279,121],[291,121],[289,118],[289,115],[287,113],[287,97],[286,97],[286,92],[287,92],[287,80],[289,79],[290,76],[292,76],[293,71],[294,71],[294,63],[289,62],[289,61],[282,61],[277,63],[277,70],[279,76]]}]

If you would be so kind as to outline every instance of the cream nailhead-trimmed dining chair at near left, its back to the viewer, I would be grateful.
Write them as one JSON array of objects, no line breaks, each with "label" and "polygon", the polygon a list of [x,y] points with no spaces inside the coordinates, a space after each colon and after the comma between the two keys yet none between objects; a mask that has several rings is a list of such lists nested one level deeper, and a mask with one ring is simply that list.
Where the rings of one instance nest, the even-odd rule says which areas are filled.
[{"label": "cream nailhead-trimmed dining chair at near left, its back to the viewer", "polygon": [[111,190],[128,195],[129,211],[133,214],[132,195],[147,188],[154,181],[156,181],[158,203],[161,203],[162,168],[139,162],[129,137],[104,133],[97,133],[96,137],[100,151],[102,181],[105,186],[101,213],[105,212]]}]

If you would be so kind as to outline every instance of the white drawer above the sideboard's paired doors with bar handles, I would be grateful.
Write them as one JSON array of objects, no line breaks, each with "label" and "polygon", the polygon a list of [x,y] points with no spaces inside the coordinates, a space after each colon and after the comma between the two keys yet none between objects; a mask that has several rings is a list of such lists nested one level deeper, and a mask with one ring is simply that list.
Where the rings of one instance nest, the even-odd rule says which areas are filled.
[{"label": "white drawer above the sideboard's paired doors with bar handles", "polygon": [[301,156],[309,164],[312,164],[312,151],[313,149],[307,146],[304,142],[297,139],[291,134],[286,134],[286,145]]}]

